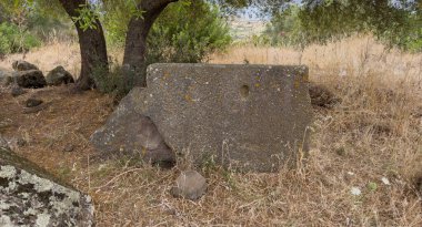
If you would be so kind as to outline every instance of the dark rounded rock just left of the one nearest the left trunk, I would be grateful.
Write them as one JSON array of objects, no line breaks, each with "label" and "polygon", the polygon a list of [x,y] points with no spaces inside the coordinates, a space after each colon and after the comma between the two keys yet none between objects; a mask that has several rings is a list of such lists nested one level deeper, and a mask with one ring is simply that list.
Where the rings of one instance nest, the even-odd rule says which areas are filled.
[{"label": "dark rounded rock just left of the one nearest the left trunk", "polygon": [[12,79],[19,86],[26,89],[39,89],[47,85],[44,75],[39,70],[14,72]]}]

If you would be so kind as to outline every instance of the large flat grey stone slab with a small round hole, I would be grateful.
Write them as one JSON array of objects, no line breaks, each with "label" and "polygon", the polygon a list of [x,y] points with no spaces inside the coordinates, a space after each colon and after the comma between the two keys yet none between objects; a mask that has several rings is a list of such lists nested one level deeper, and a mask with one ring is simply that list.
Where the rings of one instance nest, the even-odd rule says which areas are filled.
[{"label": "large flat grey stone slab with a small round hole", "polygon": [[[195,163],[274,172],[308,149],[308,68],[153,64],[117,112],[148,116],[164,142]],[[121,127],[130,125],[121,125]]]}]

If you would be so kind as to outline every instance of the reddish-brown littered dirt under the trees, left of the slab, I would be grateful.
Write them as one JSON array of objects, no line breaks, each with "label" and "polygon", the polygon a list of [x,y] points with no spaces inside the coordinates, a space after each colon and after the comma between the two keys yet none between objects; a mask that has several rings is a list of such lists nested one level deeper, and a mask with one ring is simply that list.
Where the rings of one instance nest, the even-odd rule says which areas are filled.
[{"label": "reddish-brown littered dirt under the trees, left of the slab", "polygon": [[[14,152],[54,174],[66,174],[63,168],[92,154],[89,136],[107,120],[112,100],[96,91],[74,93],[68,86],[26,91],[17,97],[7,90],[0,92],[0,133]],[[24,113],[29,97],[42,100],[47,107]],[[72,152],[66,152],[67,147]]]}]

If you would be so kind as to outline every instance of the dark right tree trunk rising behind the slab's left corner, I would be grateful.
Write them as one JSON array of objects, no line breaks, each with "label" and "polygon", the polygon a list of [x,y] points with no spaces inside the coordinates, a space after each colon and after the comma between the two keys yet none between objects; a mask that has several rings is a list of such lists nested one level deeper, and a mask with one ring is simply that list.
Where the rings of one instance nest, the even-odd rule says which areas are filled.
[{"label": "dark right tree trunk rising behind the slab's left corner", "polygon": [[140,86],[147,85],[145,54],[148,33],[165,7],[175,1],[178,0],[142,0],[138,6],[144,13],[142,18],[132,17],[128,25],[123,56],[127,83]]}]

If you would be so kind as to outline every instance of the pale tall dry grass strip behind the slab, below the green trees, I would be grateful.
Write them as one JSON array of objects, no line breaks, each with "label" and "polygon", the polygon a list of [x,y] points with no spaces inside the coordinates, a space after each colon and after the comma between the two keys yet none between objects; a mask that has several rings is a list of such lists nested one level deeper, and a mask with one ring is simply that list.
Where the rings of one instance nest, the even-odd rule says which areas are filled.
[{"label": "pale tall dry grass strip behind the slab, below the green trees", "polygon": [[233,47],[211,56],[212,63],[305,64],[310,74],[379,74],[390,79],[422,80],[422,54],[386,49],[371,37],[344,39],[326,45],[310,45],[303,51],[290,48]]}]

